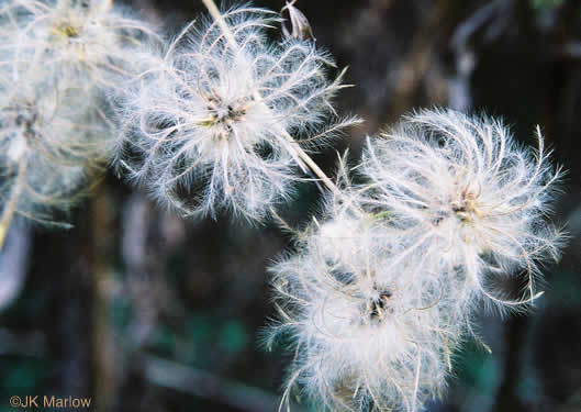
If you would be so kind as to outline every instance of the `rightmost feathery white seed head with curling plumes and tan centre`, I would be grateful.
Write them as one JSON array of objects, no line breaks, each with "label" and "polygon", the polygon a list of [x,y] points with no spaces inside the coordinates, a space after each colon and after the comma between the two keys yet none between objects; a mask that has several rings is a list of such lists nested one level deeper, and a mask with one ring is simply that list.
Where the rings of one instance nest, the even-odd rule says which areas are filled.
[{"label": "rightmost feathery white seed head with curling plumes and tan centre", "polygon": [[389,212],[402,254],[460,282],[461,303],[485,296],[514,305],[484,283],[521,269],[528,276],[521,302],[530,301],[536,259],[555,257],[560,245],[545,219],[560,170],[551,168],[540,133],[538,144],[537,152],[521,147],[499,121],[422,111],[369,141],[361,202]]}]

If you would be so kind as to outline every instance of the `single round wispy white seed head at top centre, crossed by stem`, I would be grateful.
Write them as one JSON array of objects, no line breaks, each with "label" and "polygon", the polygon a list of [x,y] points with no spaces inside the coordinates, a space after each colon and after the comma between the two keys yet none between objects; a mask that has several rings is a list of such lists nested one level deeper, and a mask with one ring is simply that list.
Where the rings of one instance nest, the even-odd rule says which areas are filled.
[{"label": "single round wispy white seed head at top centre, crossed by stem", "polygon": [[194,22],[134,89],[122,164],[163,204],[260,220],[298,178],[299,144],[316,147],[354,122],[329,124],[342,76],[327,80],[333,62],[312,42],[270,42],[278,22],[253,8]]}]

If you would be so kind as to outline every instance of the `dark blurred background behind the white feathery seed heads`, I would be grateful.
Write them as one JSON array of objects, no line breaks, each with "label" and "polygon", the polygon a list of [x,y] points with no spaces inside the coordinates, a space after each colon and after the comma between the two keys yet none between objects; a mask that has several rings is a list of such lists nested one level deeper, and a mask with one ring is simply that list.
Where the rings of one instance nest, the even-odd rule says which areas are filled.
[{"label": "dark blurred background behind the white feathery seed heads", "polygon": [[[130,5],[170,32],[203,10],[198,0]],[[338,97],[340,112],[367,121],[315,156],[331,175],[335,151],[357,157],[367,134],[412,108],[502,116],[525,144],[540,124],[569,170],[554,205],[569,245],[546,268],[536,310],[481,316],[492,354],[468,342],[428,411],[581,411],[581,1],[295,5],[316,43],[349,66],[356,86]],[[319,189],[304,183],[280,213],[301,226],[319,211]],[[288,233],[227,216],[183,221],[113,175],[72,222],[66,232],[16,222],[0,254],[0,412],[15,394],[90,397],[91,411],[277,410],[290,358],[259,338],[275,313],[266,268],[291,248]]]}]

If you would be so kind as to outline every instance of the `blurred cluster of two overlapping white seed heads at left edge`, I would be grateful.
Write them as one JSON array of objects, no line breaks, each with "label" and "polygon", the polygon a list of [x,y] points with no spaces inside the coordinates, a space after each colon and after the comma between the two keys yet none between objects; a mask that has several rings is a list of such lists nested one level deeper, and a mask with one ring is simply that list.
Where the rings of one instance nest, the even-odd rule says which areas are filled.
[{"label": "blurred cluster of two overlapping white seed heads at left edge", "polygon": [[53,223],[111,156],[108,94],[149,30],[109,1],[10,0],[0,11],[0,238],[15,213]]}]

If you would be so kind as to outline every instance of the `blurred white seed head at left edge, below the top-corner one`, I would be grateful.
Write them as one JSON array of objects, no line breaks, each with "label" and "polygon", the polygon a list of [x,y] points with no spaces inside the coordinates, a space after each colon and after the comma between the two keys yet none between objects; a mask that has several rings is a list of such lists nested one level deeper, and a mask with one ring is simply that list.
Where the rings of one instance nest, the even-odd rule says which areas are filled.
[{"label": "blurred white seed head at left edge, below the top-corner one", "polygon": [[107,157],[108,129],[91,119],[90,96],[22,75],[0,74],[2,223],[12,212],[53,223],[49,211],[66,211],[86,174]]}]

